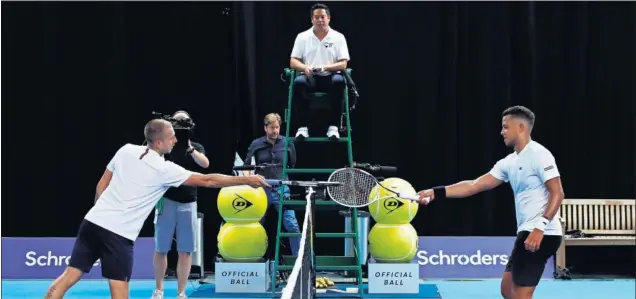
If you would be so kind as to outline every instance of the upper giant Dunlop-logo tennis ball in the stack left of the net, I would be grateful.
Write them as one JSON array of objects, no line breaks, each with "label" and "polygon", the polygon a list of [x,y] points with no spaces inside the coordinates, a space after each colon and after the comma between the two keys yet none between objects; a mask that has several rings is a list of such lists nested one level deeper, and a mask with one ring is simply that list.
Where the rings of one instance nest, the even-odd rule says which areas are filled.
[{"label": "upper giant Dunlop-logo tennis ball in the stack left of the net", "polygon": [[225,222],[258,222],[267,212],[267,194],[263,188],[247,185],[221,188],[216,205]]}]

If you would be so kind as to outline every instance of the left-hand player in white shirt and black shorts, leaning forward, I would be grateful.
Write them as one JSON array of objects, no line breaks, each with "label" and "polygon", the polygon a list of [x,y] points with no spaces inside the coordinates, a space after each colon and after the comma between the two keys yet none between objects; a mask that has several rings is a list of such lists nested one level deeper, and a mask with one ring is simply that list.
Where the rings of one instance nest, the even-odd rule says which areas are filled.
[{"label": "left-hand player in white shirt and black shorts, leaning forward", "polygon": [[97,259],[108,279],[111,298],[128,298],[133,246],[150,212],[169,187],[269,187],[261,176],[203,175],[166,161],[176,143],[170,122],[155,119],[144,129],[147,146],[126,144],[112,158],[97,183],[95,206],[80,224],[69,265],[45,298],[62,298],[88,273]]}]

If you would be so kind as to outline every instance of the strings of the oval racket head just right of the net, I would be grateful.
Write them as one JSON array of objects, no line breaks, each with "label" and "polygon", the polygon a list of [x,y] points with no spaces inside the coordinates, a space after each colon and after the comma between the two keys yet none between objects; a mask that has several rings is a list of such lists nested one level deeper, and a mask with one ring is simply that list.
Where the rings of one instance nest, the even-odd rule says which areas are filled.
[{"label": "strings of the oval racket head just right of the net", "polygon": [[374,177],[355,169],[343,169],[332,174],[330,181],[341,183],[329,188],[334,201],[348,206],[364,206],[377,184]]}]

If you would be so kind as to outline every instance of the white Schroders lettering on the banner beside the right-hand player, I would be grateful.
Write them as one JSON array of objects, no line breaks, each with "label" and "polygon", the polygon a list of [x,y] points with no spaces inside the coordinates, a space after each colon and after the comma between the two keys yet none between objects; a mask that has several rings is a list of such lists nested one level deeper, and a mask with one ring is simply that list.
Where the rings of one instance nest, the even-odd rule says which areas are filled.
[{"label": "white Schroders lettering on the banner beside the right-hand player", "polygon": [[428,252],[421,250],[417,252],[417,263],[420,265],[506,265],[508,264],[507,254],[485,254],[481,250],[477,250],[474,254],[455,254],[438,250],[437,252]]}]

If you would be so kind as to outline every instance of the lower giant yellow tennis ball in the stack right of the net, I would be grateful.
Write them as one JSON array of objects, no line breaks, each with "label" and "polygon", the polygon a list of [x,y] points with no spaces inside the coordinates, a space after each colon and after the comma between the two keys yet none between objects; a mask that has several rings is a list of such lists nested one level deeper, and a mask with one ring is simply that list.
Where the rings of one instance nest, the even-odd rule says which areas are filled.
[{"label": "lower giant yellow tennis ball in the stack right of the net", "polygon": [[369,253],[378,263],[410,263],[417,253],[418,240],[410,223],[378,223],[369,232]]}]

